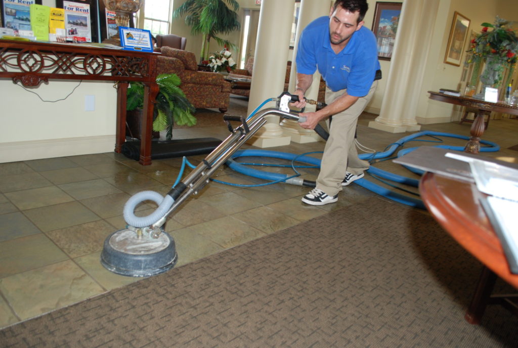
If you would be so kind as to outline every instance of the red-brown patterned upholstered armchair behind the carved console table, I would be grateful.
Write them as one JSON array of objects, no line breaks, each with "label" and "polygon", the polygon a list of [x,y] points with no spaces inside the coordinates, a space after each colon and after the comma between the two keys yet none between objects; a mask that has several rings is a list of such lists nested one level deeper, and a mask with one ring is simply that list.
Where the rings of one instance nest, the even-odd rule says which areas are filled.
[{"label": "red-brown patterned upholstered armchair behind the carved console table", "polygon": [[156,73],[178,75],[180,88],[197,108],[217,108],[226,112],[230,101],[230,83],[217,72],[198,71],[193,52],[161,47],[157,57]]}]

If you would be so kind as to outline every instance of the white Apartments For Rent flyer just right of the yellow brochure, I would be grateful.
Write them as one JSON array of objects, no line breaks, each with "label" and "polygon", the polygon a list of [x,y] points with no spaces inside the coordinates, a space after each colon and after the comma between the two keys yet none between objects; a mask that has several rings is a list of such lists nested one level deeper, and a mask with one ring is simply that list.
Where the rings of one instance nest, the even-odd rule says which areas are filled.
[{"label": "white Apartments For Rent flyer just right of the yellow brochure", "polygon": [[92,42],[90,30],[90,5],[63,2],[67,41]]}]

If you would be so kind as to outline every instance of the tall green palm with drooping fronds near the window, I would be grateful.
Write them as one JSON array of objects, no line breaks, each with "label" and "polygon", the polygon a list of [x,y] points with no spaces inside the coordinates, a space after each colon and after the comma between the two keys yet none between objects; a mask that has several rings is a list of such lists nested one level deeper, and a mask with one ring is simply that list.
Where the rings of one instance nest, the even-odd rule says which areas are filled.
[{"label": "tall green palm with drooping fronds near the window", "polygon": [[[227,4],[232,8],[228,8]],[[191,34],[202,34],[202,52],[200,62],[206,60],[210,39],[220,46],[237,50],[237,46],[220,38],[220,34],[229,34],[239,30],[241,24],[237,19],[239,3],[236,0],[186,0],[172,14],[172,18],[185,16],[185,24],[191,27]]]}]

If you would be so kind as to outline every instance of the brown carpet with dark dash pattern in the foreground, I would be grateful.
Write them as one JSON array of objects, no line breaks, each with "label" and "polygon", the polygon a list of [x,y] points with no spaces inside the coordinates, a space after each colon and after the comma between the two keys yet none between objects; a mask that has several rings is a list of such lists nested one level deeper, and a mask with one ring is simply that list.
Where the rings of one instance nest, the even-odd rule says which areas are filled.
[{"label": "brown carpet with dark dash pattern in the foreground", "polygon": [[464,320],[479,272],[426,212],[373,197],[5,328],[0,346],[514,347],[505,309]]}]

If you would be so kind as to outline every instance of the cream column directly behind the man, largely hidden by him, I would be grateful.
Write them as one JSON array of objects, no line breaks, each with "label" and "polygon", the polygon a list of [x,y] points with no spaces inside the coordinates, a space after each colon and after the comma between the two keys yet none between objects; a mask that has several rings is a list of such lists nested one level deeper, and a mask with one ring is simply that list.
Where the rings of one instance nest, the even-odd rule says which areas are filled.
[{"label": "cream column directly behind the man, largely hidden by him", "polygon": [[[297,64],[295,59],[297,57],[297,45],[300,38],[300,34],[304,28],[314,19],[322,16],[328,16],[330,9],[330,2],[322,0],[301,0],[300,12],[298,16],[297,32],[295,33],[295,46],[293,48],[292,57],[292,69],[290,72],[290,88],[289,91],[293,92],[296,88],[297,83]],[[313,83],[310,88],[306,91],[305,95],[308,99],[316,100],[319,94],[320,74],[315,71],[313,75]],[[304,111],[310,112],[315,111],[316,106],[307,105]],[[298,125],[298,122],[283,119],[281,121],[281,127],[285,135],[289,135],[293,142],[307,143],[320,141],[322,138],[311,129],[304,129]]]}]

